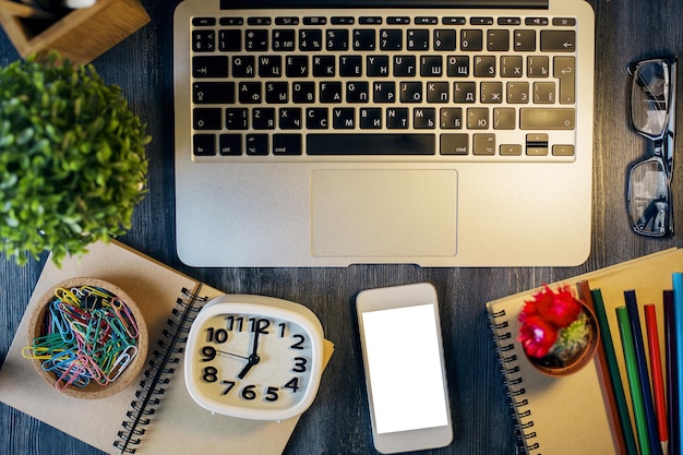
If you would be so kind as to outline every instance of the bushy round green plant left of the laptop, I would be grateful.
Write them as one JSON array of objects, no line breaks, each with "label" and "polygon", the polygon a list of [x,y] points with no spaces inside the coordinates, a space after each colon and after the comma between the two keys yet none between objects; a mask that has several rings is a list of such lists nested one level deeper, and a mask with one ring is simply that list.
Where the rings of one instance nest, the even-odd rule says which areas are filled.
[{"label": "bushy round green plant left of the laptop", "polygon": [[120,87],[57,53],[0,69],[0,251],[60,264],[131,227],[151,137]]}]

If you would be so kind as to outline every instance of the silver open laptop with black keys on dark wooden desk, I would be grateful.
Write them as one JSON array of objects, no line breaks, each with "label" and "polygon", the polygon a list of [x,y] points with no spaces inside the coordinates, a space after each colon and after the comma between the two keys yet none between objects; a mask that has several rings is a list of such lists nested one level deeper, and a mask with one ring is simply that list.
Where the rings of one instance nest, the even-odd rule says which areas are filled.
[{"label": "silver open laptop with black keys on dark wooden desk", "polygon": [[190,266],[571,266],[591,238],[584,0],[184,0]]}]

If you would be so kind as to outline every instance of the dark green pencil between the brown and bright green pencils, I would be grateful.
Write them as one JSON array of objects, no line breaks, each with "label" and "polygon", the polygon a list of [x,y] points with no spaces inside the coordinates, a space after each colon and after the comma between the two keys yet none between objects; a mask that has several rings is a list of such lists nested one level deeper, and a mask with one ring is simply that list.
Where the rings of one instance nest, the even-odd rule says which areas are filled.
[{"label": "dark green pencil between the brown and bright green pencils", "polygon": [[607,311],[604,309],[604,301],[602,300],[602,292],[600,289],[592,289],[590,294],[592,296],[596,316],[598,318],[598,325],[600,325],[600,338],[607,356],[610,381],[612,382],[612,387],[614,388],[614,400],[616,402],[616,410],[619,412],[619,419],[624,433],[626,452],[628,455],[638,455],[638,447],[636,445],[635,435],[633,434],[633,427],[631,426],[631,416],[628,415],[626,394],[624,393],[624,385],[619,372],[619,364],[616,363],[616,351],[614,349],[614,343],[612,343],[612,334],[610,332],[610,324],[607,320]]}]

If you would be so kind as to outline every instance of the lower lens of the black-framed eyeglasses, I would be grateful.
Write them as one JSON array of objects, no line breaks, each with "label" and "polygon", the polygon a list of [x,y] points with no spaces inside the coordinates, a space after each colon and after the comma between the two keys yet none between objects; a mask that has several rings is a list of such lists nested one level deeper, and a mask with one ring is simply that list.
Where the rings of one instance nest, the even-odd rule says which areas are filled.
[{"label": "lower lens of the black-framed eyeglasses", "polygon": [[634,229],[647,236],[669,234],[669,182],[661,158],[636,164],[628,178],[628,213]]}]

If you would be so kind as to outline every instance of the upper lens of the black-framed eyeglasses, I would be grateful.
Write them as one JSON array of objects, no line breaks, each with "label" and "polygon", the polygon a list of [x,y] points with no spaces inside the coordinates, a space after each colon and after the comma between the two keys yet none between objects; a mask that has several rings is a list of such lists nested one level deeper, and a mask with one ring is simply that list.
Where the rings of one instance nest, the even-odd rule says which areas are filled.
[{"label": "upper lens of the black-framed eyeglasses", "polygon": [[669,67],[664,61],[646,61],[636,67],[631,94],[634,128],[658,137],[667,128],[669,103]]}]

